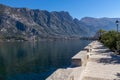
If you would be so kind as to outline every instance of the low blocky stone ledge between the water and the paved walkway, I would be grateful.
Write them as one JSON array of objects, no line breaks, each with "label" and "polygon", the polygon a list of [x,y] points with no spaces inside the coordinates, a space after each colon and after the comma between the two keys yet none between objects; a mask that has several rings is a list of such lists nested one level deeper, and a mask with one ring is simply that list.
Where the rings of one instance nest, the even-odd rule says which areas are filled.
[{"label": "low blocky stone ledge between the water and the paved walkway", "polygon": [[85,69],[89,56],[91,55],[93,46],[94,46],[94,41],[88,44],[88,46],[86,46],[83,50],[81,50],[75,56],[72,57],[71,68],[58,69],[51,76],[49,76],[46,80],[77,80],[77,79],[80,79],[80,75]]}]

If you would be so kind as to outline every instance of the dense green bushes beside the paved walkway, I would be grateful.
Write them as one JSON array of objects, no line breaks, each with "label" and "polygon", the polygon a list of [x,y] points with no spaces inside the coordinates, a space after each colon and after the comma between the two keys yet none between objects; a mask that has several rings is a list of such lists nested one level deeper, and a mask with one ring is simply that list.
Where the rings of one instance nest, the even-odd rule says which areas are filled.
[{"label": "dense green bushes beside the paved walkway", "polygon": [[120,32],[99,30],[99,40],[111,50],[120,53]]}]

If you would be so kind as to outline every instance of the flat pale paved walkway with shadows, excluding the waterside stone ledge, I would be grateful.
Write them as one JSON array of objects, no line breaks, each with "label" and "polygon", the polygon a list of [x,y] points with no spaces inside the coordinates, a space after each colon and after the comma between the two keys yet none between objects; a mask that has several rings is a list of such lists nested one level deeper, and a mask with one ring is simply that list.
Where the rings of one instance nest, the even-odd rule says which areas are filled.
[{"label": "flat pale paved walkway with shadows, excluding the waterside stone ledge", "polygon": [[95,41],[79,80],[120,80],[120,56]]}]

